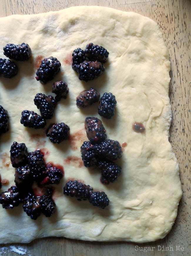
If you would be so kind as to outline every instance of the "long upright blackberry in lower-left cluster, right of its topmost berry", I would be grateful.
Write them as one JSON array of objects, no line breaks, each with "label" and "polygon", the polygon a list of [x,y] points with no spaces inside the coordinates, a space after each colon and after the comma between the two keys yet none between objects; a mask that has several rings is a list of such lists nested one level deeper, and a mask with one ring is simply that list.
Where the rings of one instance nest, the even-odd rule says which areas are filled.
[{"label": "long upright blackberry in lower-left cluster, right of its topmost berry", "polygon": [[27,155],[32,177],[36,181],[41,181],[46,176],[46,166],[43,159],[43,154],[40,150],[29,152]]}]

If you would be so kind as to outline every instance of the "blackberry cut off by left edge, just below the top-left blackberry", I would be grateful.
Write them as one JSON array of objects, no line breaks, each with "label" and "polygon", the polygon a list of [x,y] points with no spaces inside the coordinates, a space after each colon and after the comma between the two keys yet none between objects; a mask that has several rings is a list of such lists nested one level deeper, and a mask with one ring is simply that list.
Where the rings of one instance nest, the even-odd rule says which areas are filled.
[{"label": "blackberry cut off by left edge, just below the top-left blackberry", "polygon": [[0,76],[12,78],[17,73],[18,67],[13,61],[0,58]]}]

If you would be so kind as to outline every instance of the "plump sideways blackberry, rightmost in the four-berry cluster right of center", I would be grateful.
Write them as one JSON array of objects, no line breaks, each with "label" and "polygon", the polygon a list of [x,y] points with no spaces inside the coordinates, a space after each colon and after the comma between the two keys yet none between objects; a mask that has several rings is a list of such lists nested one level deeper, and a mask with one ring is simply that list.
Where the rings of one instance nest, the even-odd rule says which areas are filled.
[{"label": "plump sideways blackberry, rightmost in the four-berry cluster right of center", "polygon": [[122,156],[122,147],[118,141],[105,140],[95,145],[96,156],[99,159],[114,161]]}]

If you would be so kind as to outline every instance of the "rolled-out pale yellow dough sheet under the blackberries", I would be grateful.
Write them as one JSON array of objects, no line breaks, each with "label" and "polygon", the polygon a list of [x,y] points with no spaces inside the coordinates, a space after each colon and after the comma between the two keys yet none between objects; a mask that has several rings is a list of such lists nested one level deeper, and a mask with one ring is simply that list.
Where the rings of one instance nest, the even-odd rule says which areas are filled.
[{"label": "rolled-out pale yellow dough sheet under the blackberries", "polygon": [[[64,178],[54,185],[56,212],[36,221],[22,206],[12,210],[0,207],[0,243],[27,243],[39,237],[63,236],[90,241],[150,242],[165,237],[177,216],[182,195],[178,163],[168,141],[171,107],[168,97],[170,61],[157,24],[139,14],[98,7],[81,6],[37,15],[0,18],[0,58],[7,43],[28,43],[32,58],[18,62],[19,73],[12,79],[0,77],[0,105],[8,110],[9,132],[1,135],[0,174],[8,179],[1,192],[14,185],[14,168],[9,150],[13,141],[24,142],[28,151],[42,149],[45,161],[60,164]],[[105,73],[94,81],[81,82],[71,67],[71,54],[88,43],[109,51]],[[59,145],[46,137],[46,128],[34,130],[20,124],[21,112],[39,113],[33,99],[36,93],[52,94],[53,81],[36,81],[37,57],[53,56],[61,71],[53,81],[68,83],[69,94],[62,99],[52,120],[71,129],[71,140]],[[38,62],[38,61],[37,61]],[[117,100],[111,120],[99,117],[98,104],[76,107],[76,96],[95,87],[102,95],[111,92]],[[84,129],[87,116],[100,118],[107,138],[127,143],[117,161],[122,172],[108,186],[100,182],[100,172],[82,165],[80,146],[88,140]],[[132,124],[141,122],[145,133],[136,133]],[[124,145],[124,144],[123,144]],[[47,154],[46,152],[49,152]],[[69,161],[69,158],[73,161]],[[68,179],[81,180],[95,191],[105,191],[110,205],[105,209],[63,195]]]}]

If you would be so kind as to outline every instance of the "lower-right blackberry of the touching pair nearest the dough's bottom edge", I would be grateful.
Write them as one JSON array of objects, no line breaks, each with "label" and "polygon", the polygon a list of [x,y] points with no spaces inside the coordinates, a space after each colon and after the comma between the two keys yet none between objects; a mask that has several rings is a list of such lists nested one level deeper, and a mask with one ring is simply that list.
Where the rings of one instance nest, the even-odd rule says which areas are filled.
[{"label": "lower-right blackberry of the touching pair nearest the dough's bottom edge", "polygon": [[109,205],[108,196],[103,191],[92,192],[88,200],[93,206],[97,206],[102,209]]}]

